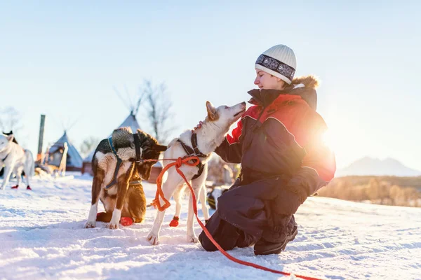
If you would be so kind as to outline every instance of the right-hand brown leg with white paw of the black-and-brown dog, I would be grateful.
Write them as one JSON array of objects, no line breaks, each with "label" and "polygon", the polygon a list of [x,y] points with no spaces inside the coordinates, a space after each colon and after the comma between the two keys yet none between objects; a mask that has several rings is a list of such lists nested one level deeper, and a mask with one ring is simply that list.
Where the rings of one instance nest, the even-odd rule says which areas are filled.
[{"label": "right-hand brown leg with white paw of the black-and-brown dog", "polygon": [[109,229],[114,230],[116,228],[119,228],[119,223],[121,219],[121,209],[123,208],[123,203],[126,199],[128,183],[131,179],[134,166],[135,165],[132,162],[123,162],[123,164],[121,165],[120,170],[127,171],[117,177],[117,202],[114,211],[112,211],[111,221],[109,221],[109,223],[107,223],[106,225],[106,227]]}]

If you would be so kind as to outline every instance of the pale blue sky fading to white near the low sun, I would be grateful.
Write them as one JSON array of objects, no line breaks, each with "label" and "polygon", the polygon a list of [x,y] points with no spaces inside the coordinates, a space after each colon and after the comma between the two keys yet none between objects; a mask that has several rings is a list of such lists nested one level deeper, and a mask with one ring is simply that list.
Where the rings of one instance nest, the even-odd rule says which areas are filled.
[{"label": "pale blue sky fading to white near the low sun", "polygon": [[368,155],[421,169],[421,4],[289,2],[3,2],[0,109],[22,114],[17,137],[34,153],[41,113],[44,143],[76,121],[68,134],[79,148],[128,116],[113,88],[135,95],[147,78],[166,83],[176,136],[203,120],[206,100],[248,100],[255,59],[283,43],[296,76],[322,80],[318,111],[338,167]]}]

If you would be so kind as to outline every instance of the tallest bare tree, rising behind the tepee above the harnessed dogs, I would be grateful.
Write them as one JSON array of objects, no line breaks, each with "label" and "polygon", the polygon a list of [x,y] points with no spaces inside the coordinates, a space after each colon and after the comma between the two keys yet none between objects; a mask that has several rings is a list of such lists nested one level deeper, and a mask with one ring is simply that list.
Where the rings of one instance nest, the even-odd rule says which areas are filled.
[{"label": "tallest bare tree, rising behind the tepee above the harnessed dogs", "polygon": [[165,83],[154,86],[150,80],[145,80],[144,85],[140,87],[140,96],[145,97],[146,100],[143,105],[149,125],[154,132],[153,136],[159,143],[165,144],[170,132],[174,129],[167,123],[173,117],[171,113],[173,104],[168,97]]}]

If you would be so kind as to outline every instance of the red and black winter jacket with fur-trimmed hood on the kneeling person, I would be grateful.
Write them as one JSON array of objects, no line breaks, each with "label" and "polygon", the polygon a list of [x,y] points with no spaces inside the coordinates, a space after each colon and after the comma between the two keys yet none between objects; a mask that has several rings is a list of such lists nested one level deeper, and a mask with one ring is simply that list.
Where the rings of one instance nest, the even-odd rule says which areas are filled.
[{"label": "red and black winter jacket with fur-trimmed hood on the kneeling person", "polygon": [[241,163],[248,181],[282,176],[286,183],[277,188],[303,202],[332,180],[336,169],[335,155],[323,142],[326,123],[316,113],[316,85],[307,76],[295,78],[286,90],[250,90],[254,106],[215,152]]}]

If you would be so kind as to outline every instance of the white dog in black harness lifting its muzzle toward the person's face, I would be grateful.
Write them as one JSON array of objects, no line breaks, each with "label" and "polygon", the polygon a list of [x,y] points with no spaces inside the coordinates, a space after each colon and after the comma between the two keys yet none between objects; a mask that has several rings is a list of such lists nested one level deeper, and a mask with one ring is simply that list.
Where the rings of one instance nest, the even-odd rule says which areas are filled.
[{"label": "white dog in black harness lifting its muzzle toward the person's face", "polygon": [[[235,123],[236,120],[239,120],[242,113],[246,111],[246,102],[236,104],[232,107],[219,106],[218,108],[215,108],[210,102],[206,102],[206,109],[208,111],[208,116],[201,128],[195,132],[187,130],[182,133],[178,139],[173,139],[168,145],[167,151],[164,153],[164,158],[184,157],[187,155],[186,150],[192,150],[193,147],[196,155],[201,155],[199,158],[201,164],[206,165],[206,162],[210,159],[210,153],[215,151],[215,148],[222,144],[225,134],[229,131],[229,127]],[[193,134],[196,134],[196,136]],[[196,137],[194,141],[196,144],[192,143],[194,137]],[[189,146],[190,148],[186,148],[185,146]],[[191,153],[191,155],[193,154]],[[164,162],[164,165],[165,164],[168,164],[168,162]],[[193,177],[198,174],[199,169],[197,167],[182,165],[180,170],[185,174],[187,180],[192,180],[192,188],[194,190],[194,195],[196,195],[197,198],[199,193],[201,193],[201,188],[204,188],[207,172],[202,172],[199,177],[193,179]],[[162,187],[163,195],[166,200],[171,198],[175,190],[182,188],[183,183],[184,180],[176,172],[175,167],[168,169],[168,179],[163,183]],[[161,204],[163,204],[163,200],[161,198],[159,200]],[[157,211],[156,213],[152,230],[149,232],[149,235],[147,235],[147,240],[150,244],[159,244],[159,231],[161,230],[164,215],[165,211]],[[193,218],[193,200],[192,195],[190,195],[189,211],[187,214],[187,241],[196,243],[199,239],[197,239],[196,234],[194,233]]]}]

